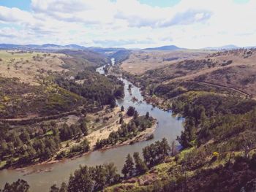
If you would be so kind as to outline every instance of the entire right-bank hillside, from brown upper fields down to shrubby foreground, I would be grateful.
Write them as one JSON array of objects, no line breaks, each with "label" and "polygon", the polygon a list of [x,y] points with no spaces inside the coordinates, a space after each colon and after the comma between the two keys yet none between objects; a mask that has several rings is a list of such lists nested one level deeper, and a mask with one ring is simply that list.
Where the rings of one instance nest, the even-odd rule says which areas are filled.
[{"label": "entire right-bank hillside, from brown upper fields down to shrubby foreground", "polygon": [[121,65],[123,75],[140,86],[146,101],[184,118],[177,138],[182,148],[165,147],[169,155],[159,161],[154,147],[161,142],[145,147],[131,177],[105,191],[255,191],[256,50],[187,55],[166,66],[148,64],[138,74],[140,54],[124,61],[138,58],[132,71]]}]

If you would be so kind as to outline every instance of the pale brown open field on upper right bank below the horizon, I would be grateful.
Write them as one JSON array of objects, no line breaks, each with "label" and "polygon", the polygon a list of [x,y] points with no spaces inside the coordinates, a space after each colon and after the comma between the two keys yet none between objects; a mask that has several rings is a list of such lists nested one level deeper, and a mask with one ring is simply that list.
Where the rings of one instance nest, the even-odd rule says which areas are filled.
[{"label": "pale brown open field on upper right bank below the horizon", "polygon": [[[172,60],[172,61],[166,61]],[[121,69],[142,80],[205,82],[256,95],[256,50],[134,52]]]}]

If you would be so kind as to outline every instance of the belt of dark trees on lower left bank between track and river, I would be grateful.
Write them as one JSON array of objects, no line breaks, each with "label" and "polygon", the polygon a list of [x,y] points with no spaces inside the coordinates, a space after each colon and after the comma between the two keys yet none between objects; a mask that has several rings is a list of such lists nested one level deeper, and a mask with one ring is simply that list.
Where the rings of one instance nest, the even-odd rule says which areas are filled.
[{"label": "belt of dark trees on lower left bank between track and river", "polygon": [[[23,166],[53,158],[61,150],[61,142],[80,139],[88,134],[84,119],[78,124],[57,126],[53,121],[39,124],[39,127],[21,126],[10,128],[1,124],[3,131],[0,136],[0,155],[2,167]],[[37,130],[34,132],[34,130]],[[61,150],[57,158],[71,157],[89,151],[89,142],[83,139],[79,144],[72,145],[68,151]]]}]

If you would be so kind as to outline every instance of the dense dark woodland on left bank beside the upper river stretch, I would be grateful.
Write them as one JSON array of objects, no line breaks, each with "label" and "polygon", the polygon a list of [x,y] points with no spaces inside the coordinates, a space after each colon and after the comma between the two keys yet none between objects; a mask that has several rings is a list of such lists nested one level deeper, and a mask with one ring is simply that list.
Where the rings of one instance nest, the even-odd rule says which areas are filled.
[{"label": "dense dark woodland on left bank beside the upper river stretch", "polygon": [[111,107],[115,107],[115,97],[124,96],[123,84],[116,77],[105,77],[89,70],[79,72],[74,80],[61,76],[56,77],[55,82],[61,88],[83,96],[89,104],[110,104]]}]

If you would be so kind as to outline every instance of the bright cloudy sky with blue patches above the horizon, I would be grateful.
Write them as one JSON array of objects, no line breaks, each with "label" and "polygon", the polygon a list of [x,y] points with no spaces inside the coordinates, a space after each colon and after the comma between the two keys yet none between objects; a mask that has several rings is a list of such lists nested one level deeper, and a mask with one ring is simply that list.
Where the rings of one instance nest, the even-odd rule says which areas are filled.
[{"label": "bright cloudy sky with blue patches above the horizon", "polygon": [[256,45],[256,0],[0,0],[0,43]]}]

